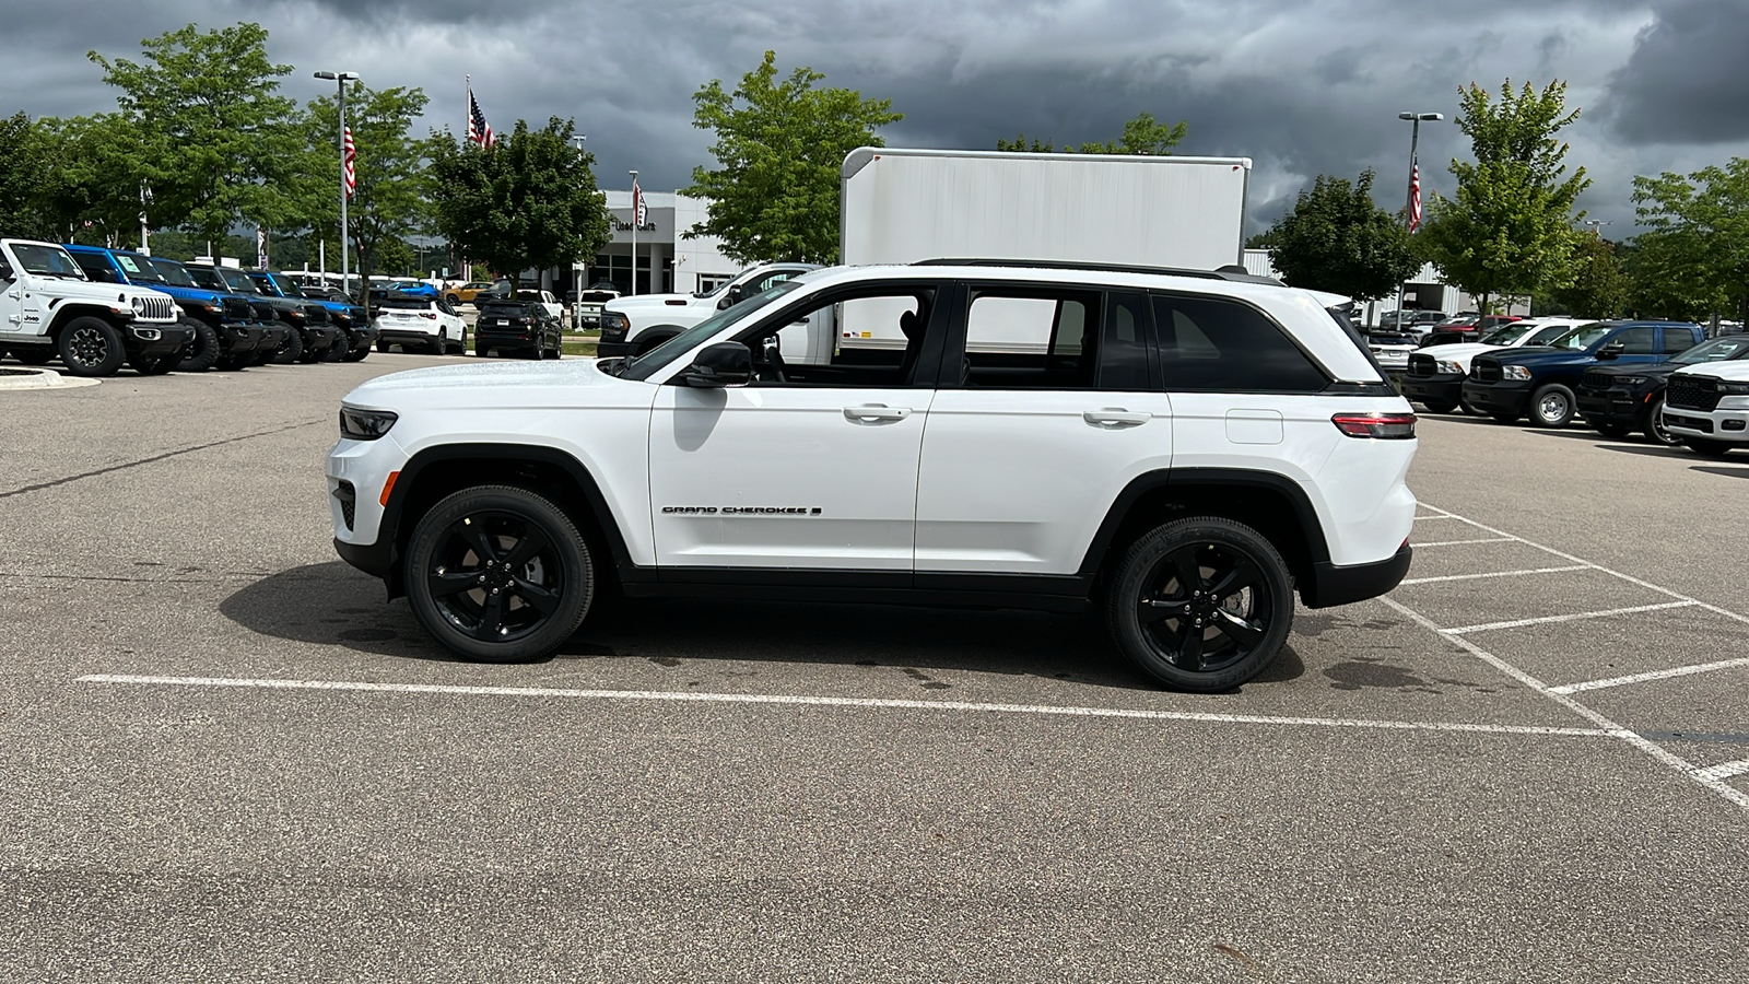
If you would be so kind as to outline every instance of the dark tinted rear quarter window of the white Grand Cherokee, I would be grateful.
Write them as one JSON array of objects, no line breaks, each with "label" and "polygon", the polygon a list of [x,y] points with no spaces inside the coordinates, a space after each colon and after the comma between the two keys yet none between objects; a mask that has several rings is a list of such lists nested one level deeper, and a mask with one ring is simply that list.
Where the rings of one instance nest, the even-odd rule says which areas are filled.
[{"label": "dark tinted rear quarter window of the white Grand Cherokee", "polygon": [[1261,312],[1224,298],[1154,296],[1168,392],[1319,392],[1329,378]]}]

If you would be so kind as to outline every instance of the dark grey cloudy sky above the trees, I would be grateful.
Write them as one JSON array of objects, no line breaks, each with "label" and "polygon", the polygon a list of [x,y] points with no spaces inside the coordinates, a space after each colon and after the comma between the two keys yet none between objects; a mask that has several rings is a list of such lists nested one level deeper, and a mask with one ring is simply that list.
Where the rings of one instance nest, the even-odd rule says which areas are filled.
[{"label": "dark grey cloudy sky above the trees", "polygon": [[1186,154],[1256,161],[1261,228],[1319,173],[1380,173],[1401,203],[1410,124],[1424,184],[1452,191],[1466,152],[1457,89],[1569,82],[1583,110],[1569,161],[1606,235],[1632,233],[1635,173],[1691,172],[1749,156],[1746,0],[0,0],[7,25],[0,110],[114,109],[86,51],[138,56],[185,23],[257,21],[296,67],[285,93],[322,95],[310,72],[352,70],[373,88],[422,86],[432,126],[463,126],[463,74],[491,124],[572,116],[603,187],[638,168],[649,191],[707,163],[691,95],[733,82],[775,49],[782,70],[890,98],[906,114],[888,145],[992,147],[1025,131],[1063,142],[1116,137],[1149,110],[1189,121]]}]

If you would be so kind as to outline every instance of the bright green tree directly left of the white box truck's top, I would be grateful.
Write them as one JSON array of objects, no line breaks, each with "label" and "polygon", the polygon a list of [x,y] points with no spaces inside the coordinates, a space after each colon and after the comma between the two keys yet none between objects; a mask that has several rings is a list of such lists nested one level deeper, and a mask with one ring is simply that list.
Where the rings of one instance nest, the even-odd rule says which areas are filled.
[{"label": "bright green tree directly left of the white box truck's top", "polygon": [[715,133],[717,168],[693,168],[684,194],[708,198],[710,207],[684,236],[717,236],[738,263],[838,261],[845,154],[885,145],[874,130],[902,116],[892,100],[813,88],[822,79],[801,67],[778,81],[777,53],[768,51],[733,93],[714,79],[693,95],[693,126]]}]

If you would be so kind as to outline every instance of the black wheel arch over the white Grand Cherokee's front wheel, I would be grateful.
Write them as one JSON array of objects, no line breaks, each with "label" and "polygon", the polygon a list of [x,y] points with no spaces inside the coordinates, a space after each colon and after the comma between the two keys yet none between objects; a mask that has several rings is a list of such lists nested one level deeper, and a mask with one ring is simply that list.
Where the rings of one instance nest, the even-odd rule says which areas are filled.
[{"label": "black wheel arch over the white Grand Cherokee's front wheel", "polygon": [[635,578],[631,552],[607,497],[589,469],[558,448],[512,443],[469,443],[427,448],[401,467],[383,508],[378,543],[390,545],[388,597],[406,594],[401,559],[413,527],[444,496],[481,483],[516,485],[537,492],[563,510],[582,531],[589,548],[612,557],[621,580]]}]

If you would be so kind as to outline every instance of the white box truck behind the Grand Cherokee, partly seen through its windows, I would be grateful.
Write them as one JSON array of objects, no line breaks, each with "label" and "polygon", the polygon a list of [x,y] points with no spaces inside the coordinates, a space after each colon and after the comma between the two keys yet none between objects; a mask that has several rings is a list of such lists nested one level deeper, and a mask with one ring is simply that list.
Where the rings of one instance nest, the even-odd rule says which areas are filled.
[{"label": "white box truck behind the Grand Cherokee, partly seen through its windows", "polygon": [[[1137,158],[859,147],[843,163],[847,264],[1041,259],[1217,270],[1244,263],[1251,158]],[[1013,310],[1009,310],[1013,308]],[[1034,310],[1037,308],[1037,310]],[[979,347],[1030,352],[1049,305],[1016,301]],[[992,308],[993,310],[993,308]],[[854,305],[784,336],[784,357],[904,348],[897,310]],[[815,320],[824,320],[817,317]],[[1042,333],[1048,336],[1049,333]]]}]

